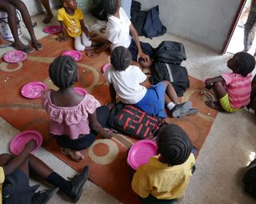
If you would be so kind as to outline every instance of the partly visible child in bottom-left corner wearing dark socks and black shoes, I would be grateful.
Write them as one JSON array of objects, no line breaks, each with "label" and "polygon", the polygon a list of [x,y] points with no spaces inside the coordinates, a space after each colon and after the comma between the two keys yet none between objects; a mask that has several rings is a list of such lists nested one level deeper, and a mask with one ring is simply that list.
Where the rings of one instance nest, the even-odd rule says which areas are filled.
[{"label": "partly visible child in bottom-left corner wearing dark socks and black shoes", "polygon": [[[66,181],[34,155],[30,155],[36,142],[30,140],[18,156],[0,155],[0,203],[46,203],[57,191],[62,190],[73,202],[78,202],[83,186],[89,175],[89,167],[83,168],[79,175]],[[53,186],[50,190],[34,192],[39,185],[30,186],[30,171]]]}]

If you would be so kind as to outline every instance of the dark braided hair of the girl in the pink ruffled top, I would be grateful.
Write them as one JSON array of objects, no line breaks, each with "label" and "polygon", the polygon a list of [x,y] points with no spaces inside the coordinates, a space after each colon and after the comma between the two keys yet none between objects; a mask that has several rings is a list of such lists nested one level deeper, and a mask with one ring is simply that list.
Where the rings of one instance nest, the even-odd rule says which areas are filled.
[{"label": "dark braided hair of the girl in the pink ruffled top", "polygon": [[50,63],[49,76],[58,88],[68,88],[78,80],[78,66],[73,57],[57,57]]}]

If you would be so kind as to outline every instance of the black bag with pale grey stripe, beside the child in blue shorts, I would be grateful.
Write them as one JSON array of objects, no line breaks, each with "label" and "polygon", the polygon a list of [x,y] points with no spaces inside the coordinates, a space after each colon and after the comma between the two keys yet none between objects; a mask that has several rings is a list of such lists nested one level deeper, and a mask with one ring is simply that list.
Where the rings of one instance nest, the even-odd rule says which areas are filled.
[{"label": "black bag with pale grey stripe, beside the child in blue shorts", "polygon": [[183,96],[186,89],[190,88],[189,75],[185,67],[155,61],[151,66],[150,82],[158,84],[162,80],[170,81],[178,96]]}]

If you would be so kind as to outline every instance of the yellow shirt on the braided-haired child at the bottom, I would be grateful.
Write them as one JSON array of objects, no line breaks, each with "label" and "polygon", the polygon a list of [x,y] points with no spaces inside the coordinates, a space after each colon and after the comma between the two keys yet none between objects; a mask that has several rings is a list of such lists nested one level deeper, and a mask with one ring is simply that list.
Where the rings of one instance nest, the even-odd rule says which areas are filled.
[{"label": "yellow shirt on the braided-haired child at the bottom", "polygon": [[190,182],[194,162],[192,153],[185,163],[173,167],[161,163],[158,156],[151,157],[148,163],[138,167],[132,188],[142,198],[150,194],[158,199],[181,198]]}]

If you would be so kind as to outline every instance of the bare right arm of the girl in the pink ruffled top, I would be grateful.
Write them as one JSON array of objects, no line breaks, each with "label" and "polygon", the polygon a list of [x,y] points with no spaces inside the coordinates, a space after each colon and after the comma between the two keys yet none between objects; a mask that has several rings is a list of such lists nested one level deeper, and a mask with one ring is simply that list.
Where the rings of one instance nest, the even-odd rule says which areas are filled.
[{"label": "bare right arm of the girl in the pink ruffled top", "polygon": [[110,139],[112,137],[111,133],[113,131],[106,132],[102,128],[102,125],[98,123],[96,112],[94,112],[93,114],[89,114],[88,119],[89,119],[90,128],[92,130],[96,131],[99,135],[102,135],[102,137],[106,139]]}]

